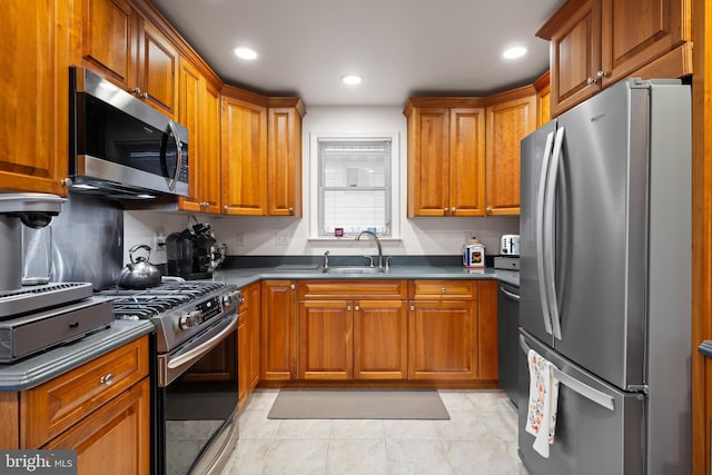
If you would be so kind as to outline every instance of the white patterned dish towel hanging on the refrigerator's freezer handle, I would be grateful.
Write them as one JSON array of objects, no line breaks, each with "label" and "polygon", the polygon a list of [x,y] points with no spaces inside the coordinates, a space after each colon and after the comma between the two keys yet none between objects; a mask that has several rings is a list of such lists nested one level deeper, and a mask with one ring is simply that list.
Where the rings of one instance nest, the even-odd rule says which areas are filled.
[{"label": "white patterned dish towel hanging on the refrigerator's freezer handle", "polygon": [[534,449],[548,458],[548,446],[554,443],[556,427],[558,380],[554,376],[555,366],[535,350],[530,349],[526,359],[530,364],[530,406],[525,429],[535,437]]}]

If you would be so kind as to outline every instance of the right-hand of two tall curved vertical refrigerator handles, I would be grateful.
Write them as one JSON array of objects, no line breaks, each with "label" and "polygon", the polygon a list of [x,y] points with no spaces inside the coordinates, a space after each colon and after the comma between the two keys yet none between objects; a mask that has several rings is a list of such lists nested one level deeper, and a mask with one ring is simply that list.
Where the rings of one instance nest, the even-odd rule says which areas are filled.
[{"label": "right-hand of two tall curved vertical refrigerator handles", "polygon": [[[554,139],[554,151],[552,152],[551,165],[546,176],[546,197],[544,202],[546,209],[544,211],[544,269],[546,270],[546,301],[548,303],[548,314],[552,321],[554,338],[562,339],[561,335],[561,317],[558,315],[558,300],[556,298],[556,180],[558,178],[558,168],[562,155],[562,146],[564,142],[564,128],[556,130]],[[541,285],[541,283],[540,283]]]}]

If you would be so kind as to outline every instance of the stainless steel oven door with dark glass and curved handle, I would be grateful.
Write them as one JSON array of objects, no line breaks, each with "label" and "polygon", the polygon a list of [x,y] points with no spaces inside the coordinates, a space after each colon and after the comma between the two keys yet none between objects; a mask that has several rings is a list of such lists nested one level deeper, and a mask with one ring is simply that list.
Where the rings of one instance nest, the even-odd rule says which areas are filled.
[{"label": "stainless steel oven door with dark glass and curved handle", "polygon": [[237,314],[157,360],[158,473],[225,464],[237,442]]}]

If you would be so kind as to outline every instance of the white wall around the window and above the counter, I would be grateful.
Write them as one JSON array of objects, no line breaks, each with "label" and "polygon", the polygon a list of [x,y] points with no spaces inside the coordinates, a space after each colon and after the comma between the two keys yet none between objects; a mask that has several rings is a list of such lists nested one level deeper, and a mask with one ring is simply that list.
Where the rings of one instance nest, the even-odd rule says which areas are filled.
[{"label": "white wall around the window and above the counter", "polygon": [[[399,196],[397,216],[400,240],[383,243],[384,255],[458,255],[465,237],[476,236],[497,254],[500,236],[518,234],[516,216],[483,218],[406,218],[406,119],[399,107],[313,107],[303,121],[303,218],[285,217],[210,217],[197,215],[209,222],[218,241],[228,246],[230,255],[320,255],[325,250],[338,255],[372,254],[368,241],[310,241],[309,236],[309,137],[312,133],[397,133],[399,136]],[[126,211],[125,254],[134,244],[155,246],[157,234],[168,235],[188,226],[189,215],[156,211]],[[156,264],[165,260],[160,251]],[[126,260],[125,259],[125,260]]]}]

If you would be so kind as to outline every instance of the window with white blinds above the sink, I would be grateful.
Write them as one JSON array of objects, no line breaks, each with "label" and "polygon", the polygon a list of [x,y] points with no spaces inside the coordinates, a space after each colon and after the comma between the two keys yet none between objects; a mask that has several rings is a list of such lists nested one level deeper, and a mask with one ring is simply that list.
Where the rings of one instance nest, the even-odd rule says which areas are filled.
[{"label": "window with white blinds above the sink", "polygon": [[394,137],[313,140],[317,185],[314,237],[333,238],[340,232],[355,237],[363,230],[394,237]]}]

